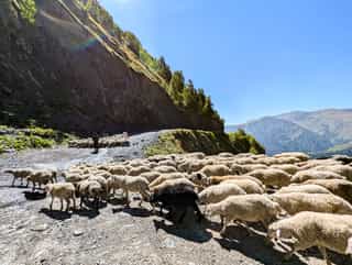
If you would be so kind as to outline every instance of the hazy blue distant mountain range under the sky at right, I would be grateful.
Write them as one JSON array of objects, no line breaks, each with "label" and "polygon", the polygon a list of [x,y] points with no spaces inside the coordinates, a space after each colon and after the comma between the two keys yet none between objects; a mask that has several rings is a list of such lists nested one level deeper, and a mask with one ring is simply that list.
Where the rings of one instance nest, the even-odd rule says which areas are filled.
[{"label": "hazy blue distant mountain range under the sky at right", "polygon": [[268,154],[301,151],[352,155],[352,109],[295,111],[226,126],[228,132],[238,129],[253,134]]}]

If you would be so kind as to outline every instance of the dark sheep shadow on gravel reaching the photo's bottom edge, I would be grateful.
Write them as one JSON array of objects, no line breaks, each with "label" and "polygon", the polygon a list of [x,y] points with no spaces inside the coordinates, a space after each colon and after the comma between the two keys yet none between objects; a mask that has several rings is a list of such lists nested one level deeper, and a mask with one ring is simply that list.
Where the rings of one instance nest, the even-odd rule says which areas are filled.
[{"label": "dark sheep shadow on gravel reaching the photo's bottom edge", "polygon": [[278,252],[273,249],[265,236],[249,232],[242,227],[231,225],[226,231],[226,238],[213,238],[221,247],[231,251],[241,252],[243,255],[249,256],[264,265],[307,265],[297,255],[293,255],[289,261],[284,261],[285,253]]}]

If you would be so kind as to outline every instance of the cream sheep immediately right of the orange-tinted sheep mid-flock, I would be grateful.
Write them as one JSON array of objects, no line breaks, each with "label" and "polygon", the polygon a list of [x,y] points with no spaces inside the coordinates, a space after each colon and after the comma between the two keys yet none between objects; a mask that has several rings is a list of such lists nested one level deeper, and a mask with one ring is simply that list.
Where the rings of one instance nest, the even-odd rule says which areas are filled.
[{"label": "cream sheep immediately right of the orange-tinted sheep mid-flock", "polygon": [[257,169],[249,173],[250,176],[260,179],[265,186],[284,187],[290,184],[290,175],[279,169]]}]

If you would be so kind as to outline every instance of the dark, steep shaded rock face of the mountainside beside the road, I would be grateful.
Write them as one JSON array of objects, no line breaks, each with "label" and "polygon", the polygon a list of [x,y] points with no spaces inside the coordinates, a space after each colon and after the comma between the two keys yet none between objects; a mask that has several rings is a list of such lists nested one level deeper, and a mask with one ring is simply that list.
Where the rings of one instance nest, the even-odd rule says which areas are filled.
[{"label": "dark, steep shaded rock face of the mountainside beside the road", "polygon": [[80,134],[222,130],[179,110],[164,88],[129,67],[76,0],[36,0],[34,24],[21,18],[18,1],[0,2],[0,122],[35,119]]}]

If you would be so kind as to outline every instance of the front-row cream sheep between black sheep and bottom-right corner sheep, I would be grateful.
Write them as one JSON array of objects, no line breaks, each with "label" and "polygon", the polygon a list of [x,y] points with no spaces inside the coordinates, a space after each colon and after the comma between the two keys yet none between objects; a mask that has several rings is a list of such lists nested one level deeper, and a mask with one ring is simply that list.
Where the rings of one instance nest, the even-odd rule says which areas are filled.
[{"label": "front-row cream sheep between black sheep and bottom-right corner sheep", "polygon": [[224,219],[221,234],[232,221],[262,222],[267,227],[271,221],[284,213],[278,203],[273,202],[265,195],[238,195],[209,205],[207,216],[220,216]]}]

